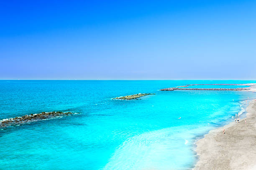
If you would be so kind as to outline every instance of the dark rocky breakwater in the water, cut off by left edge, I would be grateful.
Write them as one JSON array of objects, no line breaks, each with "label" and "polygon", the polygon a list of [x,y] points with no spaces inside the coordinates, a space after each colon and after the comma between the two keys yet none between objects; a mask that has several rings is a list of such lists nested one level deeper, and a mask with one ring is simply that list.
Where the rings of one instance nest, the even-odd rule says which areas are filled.
[{"label": "dark rocky breakwater in the water, cut off by left edge", "polygon": [[20,123],[32,122],[36,120],[49,119],[51,117],[72,115],[72,112],[41,112],[38,114],[24,115],[21,117],[9,118],[5,120],[0,120],[0,126],[15,125]]}]

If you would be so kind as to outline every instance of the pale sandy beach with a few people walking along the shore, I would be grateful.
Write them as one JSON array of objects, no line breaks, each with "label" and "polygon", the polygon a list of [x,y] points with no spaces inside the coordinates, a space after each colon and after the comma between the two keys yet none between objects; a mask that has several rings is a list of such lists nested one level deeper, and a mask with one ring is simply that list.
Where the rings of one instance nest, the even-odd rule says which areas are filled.
[{"label": "pale sandy beach with a few people walking along the shore", "polygon": [[256,170],[256,101],[246,110],[247,124],[245,119],[231,122],[196,142],[199,161],[194,170]]}]

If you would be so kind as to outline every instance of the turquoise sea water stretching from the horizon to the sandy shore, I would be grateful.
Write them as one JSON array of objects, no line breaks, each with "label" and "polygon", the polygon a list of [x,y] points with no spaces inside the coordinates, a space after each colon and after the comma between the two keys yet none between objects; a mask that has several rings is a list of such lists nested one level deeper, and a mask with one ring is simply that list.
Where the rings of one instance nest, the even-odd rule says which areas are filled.
[{"label": "turquoise sea water stretching from the horizon to the sandy shore", "polygon": [[[241,101],[256,95],[242,91],[159,89],[250,82],[253,81],[1,80],[0,119],[54,110],[79,114],[0,129],[0,169],[192,168],[197,161],[195,139],[232,121],[231,117],[243,107]],[[111,100],[136,93],[156,95],[141,100]]]}]

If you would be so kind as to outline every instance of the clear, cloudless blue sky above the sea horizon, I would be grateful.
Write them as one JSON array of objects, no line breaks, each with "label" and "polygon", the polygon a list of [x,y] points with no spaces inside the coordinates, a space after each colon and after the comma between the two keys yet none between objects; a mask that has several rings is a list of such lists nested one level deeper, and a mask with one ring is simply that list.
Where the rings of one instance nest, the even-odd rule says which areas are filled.
[{"label": "clear, cloudless blue sky above the sea horizon", "polygon": [[0,24],[0,79],[256,79],[255,0],[6,0]]}]

